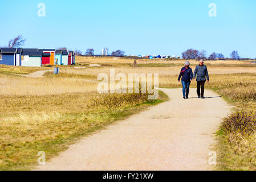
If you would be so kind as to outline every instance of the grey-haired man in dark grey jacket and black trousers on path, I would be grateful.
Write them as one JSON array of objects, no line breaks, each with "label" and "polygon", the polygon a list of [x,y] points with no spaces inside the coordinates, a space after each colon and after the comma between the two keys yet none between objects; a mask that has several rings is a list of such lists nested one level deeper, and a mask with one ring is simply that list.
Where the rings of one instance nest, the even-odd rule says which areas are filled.
[{"label": "grey-haired man in dark grey jacket and black trousers on path", "polygon": [[[204,92],[205,92],[205,82],[207,78],[207,82],[209,82],[209,75],[206,65],[204,65],[204,60],[199,61],[199,65],[196,66],[196,69],[194,69],[194,80],[197,76],[197,96],[198,98],[205,98]],[[200,93],[200,87],[201,87],[201,93]]]}]

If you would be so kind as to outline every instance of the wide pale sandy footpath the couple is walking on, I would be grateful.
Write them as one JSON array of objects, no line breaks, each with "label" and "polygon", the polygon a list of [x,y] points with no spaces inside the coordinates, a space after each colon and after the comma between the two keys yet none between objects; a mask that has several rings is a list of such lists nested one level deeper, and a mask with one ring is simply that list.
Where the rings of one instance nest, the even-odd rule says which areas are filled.
[{"label": "wide pale sandy footpath the couple is walking on", "polygon": [[204,100],[196,89],[189,100],[181,89],[161,90],[170,101],[82,138],[36,170],[212,169],[208,155],[214,133],[231,106],[210,90]]}]

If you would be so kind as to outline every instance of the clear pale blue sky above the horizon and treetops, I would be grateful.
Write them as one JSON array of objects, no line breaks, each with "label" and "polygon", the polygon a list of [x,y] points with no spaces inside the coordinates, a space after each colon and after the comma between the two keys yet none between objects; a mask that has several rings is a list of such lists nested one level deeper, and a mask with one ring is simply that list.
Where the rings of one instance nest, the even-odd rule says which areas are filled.
[{"label": "clear pale blue sky above the horizon and treetops", "polygon": [[[46,16],[38,16],[38,3]],[[217,16],[210,17],[209,3]],[[0,46],[22,34],[24,48],[121,49],[181,55],[188,48],[256,57],[255,0],[0,0]]]}]

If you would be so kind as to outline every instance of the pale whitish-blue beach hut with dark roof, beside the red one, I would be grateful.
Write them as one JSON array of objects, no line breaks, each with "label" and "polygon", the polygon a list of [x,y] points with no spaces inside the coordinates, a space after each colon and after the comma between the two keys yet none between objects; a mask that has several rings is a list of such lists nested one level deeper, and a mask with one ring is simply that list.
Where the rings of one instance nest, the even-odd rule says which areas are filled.
[{"label": "pale whitish-blue beach hut with dark roof, beside the red one", "polygon": [[38,49],[23,49],[22,63],[23,67],[41,67],[42,66],[43,51]]}]

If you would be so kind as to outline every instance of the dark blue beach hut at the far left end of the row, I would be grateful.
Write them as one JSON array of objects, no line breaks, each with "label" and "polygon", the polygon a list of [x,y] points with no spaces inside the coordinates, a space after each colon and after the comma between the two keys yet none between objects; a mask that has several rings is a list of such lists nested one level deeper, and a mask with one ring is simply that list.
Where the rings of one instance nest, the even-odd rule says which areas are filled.
[{"label": "dark blue beach hut at the far left end of the row", "polygon": [[0,48],[0,64],[15,66],[17,48]]}]

